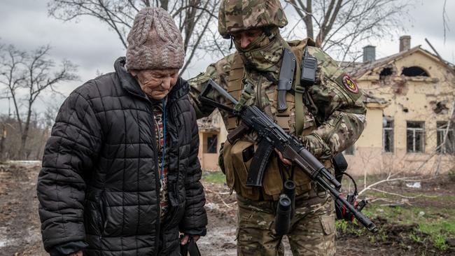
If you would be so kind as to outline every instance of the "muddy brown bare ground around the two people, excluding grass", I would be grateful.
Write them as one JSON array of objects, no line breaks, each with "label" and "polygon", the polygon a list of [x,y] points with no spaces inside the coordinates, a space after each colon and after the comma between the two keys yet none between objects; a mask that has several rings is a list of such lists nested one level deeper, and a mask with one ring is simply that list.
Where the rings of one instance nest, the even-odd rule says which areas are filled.
[{"label": "muddy brown bare ground around the two people, excluding grass", "polygon": [[[47,255],[41,243],[38,202],[36,200],[36,177],[38,165],[5,166],[0,165],[0,255]],[[455,183],[432,180],[424,183],[422,191],[428,195],[455,196]],[[202,255],[236,255],[235,195],[221,183],[204,182],[207,194],[207,213],[209,214],[208,235],[200,239],[198,246]],[[382,190],[406,193],[407,187],[390,185],[379,187]],[[455,200],[434,202],[425,198],[412,199],[413,206],[455,208]],[[441,218],[450,216],[442,214]],[[372,239],[366,232],[356,232],[356,227],[337,234],[337,255],[455,255],[454,247],[441,251],[431,243],[421,243],[409,239],[409,234],[418,234],[416,223],[397,225],[384,218],[375,218],[386,239]],[[453,243],[454,241],[447,241]],[[452,245],[454,246],[454,245]],[[285,241],[286,255],[291,255]]]}]

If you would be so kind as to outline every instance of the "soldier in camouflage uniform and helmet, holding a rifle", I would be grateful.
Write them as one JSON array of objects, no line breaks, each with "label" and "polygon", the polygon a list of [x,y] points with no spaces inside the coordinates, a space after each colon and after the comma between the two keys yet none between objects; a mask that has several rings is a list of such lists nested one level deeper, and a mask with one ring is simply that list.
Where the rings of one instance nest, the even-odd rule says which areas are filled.
[{"label": "soldier in camouflage uniform and helmet, holding a rifle", "polygon": [[[193,105],[198,115],[209,115],[213,108],[197,101],[197,94],[209,78],[239,99],[242,80],[253,83],[247,104],[255,104],[283,129],[300,138],[302,144],[333,172],[332,157],[358,139],[365,126],[363,94],[356,83],[338,68],[310,38],[285,41],[279,28],[288,23],[279,0],[223,0],[218,31],[230,38],[236,52],[211,64],[205,73],[191,79]],[[286,109],[278,106],[283,52],[295,55],[291,90],[286,92]],[[317,59],[313,85],[300,82],[302,56]],[[223,116],[228,131],[239,124]],[[230,144],[225,142],[220,166],[227,185],[235,190],[238,203],[237,254],[283,255],[281,239],[274,230],[277,199],[283,188],[279,180],[293,179],[296,185],[295,213],[287,236],[293,255],[335,254],[335,206],[321,187],[311,183],[302,170],[288,159],[273,156],[262,187],[246,186],[251,152],[257,149],[254,134],[246,134]],[[250,153],[248,153],[250,152]],[[280,162],[285,166],[279,167]],[[280,171],[281,169],[281,171]]]}]

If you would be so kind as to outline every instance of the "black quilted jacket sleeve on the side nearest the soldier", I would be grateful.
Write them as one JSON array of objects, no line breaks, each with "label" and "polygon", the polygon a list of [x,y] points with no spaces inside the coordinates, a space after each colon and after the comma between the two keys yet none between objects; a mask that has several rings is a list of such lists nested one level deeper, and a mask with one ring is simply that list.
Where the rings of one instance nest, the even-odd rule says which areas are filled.
[{"label": "black quilted jacket sleeve on the side nearest the soldier", "polygon": [[204,187],[200,183],[202,176],[201,165],[197,154],[199,151],[199,134],[197,129],[195,111],[191,109],[192,114],[192,142],[189,157],[188,170],[186,173],[186,211],[180,222],[180,231],[186,234],[205,236],[207,233],[207,213],[205,211],[205,194]]}]

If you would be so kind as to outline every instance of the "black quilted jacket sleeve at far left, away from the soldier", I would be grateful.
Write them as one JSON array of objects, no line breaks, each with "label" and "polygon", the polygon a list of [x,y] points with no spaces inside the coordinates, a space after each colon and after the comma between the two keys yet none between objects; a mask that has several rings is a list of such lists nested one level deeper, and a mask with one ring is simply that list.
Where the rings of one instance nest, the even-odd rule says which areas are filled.
[{"label": "black quilted jacket sleeve at far left, away from the soldier", "polygon": [[72,92],[59,110],[45,146],[37,194],[45,250],[84,241],[84,176],[101,145],[101,128],[90,102]]}]

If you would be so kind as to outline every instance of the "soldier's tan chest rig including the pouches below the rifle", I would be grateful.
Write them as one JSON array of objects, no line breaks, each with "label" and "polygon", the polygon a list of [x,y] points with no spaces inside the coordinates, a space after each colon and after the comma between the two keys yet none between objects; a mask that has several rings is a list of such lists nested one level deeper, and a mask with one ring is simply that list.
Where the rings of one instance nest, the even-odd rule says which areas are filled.
[{"label": "soldier's tan chest rig including the pouches below the rifle", "polygon": [[[244,91],[245,77],[253,80],[255,87],[251,94],[251,100],[262,111],[269,115],[273,120],[286,132],[293,135],[305,136],[312,130],[316,129],[316,121],[307,104],[304,104],[304,87],[300,85],[300,62],[304,54],[304,48],[307,45],[314,45],[309,40],[284,42],[284,50],[290,50],[295,56],[295,72],[290,90],[280,92],[279,80],[269,79],[267,74],[260,72],[246,73],[244,63],[238,53],[235,54],[230,74],[227,79],[227,91],[232,97],[239,100],[242,91]],[[281,63],[281,69],[283,64]],[[281,73],[281,71],[280,71]],[[281,77],[280,77],[281,80]],[[281,94],[281,95],[280,95]],[[279,97],[286,99],[285,106],[279,106]],[[296,102],[296,101],[300,101]],[[281,100],[281,103],[283,101]],[[251,102],[248,102],[251,104]],[[235,106],[230,105],[231,108]],[[280,109],[281,108],[281,109]],[[280,111],[279,111],[280,109]],[[225,119],[225,125],[228,132],[239,126],[239,120],[234,115],[228,115]],[[278,180],[288,179],[291,176],[291,170],[285,167],[279,170],[277,157],[272,155],[270,162],[265,171],[262,187],[250,187],[246,185],[246,176],[251,166],[252,156],[258,150],[253,136],[245,135],[231,144],[226,141],[223,152],[225,164],[225,174],[228,187],[235,190],[242,197],[253,200],[277,200],[283,189],[283,183]],[[293,180],[295,181],[295,194],[304,194],[311,190],[309,177],[303,171],[295,169]]]}]

